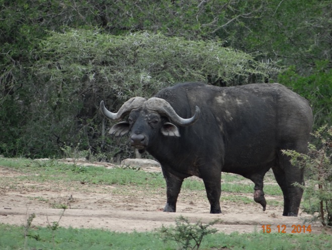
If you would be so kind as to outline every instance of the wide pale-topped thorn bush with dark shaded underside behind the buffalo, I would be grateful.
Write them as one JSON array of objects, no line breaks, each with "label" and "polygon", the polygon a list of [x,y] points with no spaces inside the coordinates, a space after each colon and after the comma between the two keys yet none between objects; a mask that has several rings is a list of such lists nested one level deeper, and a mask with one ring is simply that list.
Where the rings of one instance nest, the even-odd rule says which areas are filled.
[{"label": "wide pale-topped thorn bush with dark shaded underside behind the buffalo", "polygon": [[29,67],[33,81],[5,96],[0,108],[0,125],[6,128],[0,152],[5,156],[58,157],[61,149],[76,145],[73,150],[89,152],[89,157],[107,151],[109,161],[131,157],[124,140],[105,136],[101,100],[115,110],[129,97],[150,97],[176,82],[210,79],[237,85],[277,70],[216,41],[147,32],[49,32],[30,56],[36,58]]}]

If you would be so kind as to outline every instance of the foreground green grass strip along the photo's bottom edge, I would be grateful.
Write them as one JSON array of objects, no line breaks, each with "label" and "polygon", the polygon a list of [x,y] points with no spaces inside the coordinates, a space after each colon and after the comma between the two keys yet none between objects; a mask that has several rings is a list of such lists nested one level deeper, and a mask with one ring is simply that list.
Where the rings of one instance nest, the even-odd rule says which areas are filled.
[{"label": "foreground green grass strip along the photo's bottom edge", "polygon": [[[179,249],[173,241],[163,242],[158,232],[117,233],[103,229],[32,228],[24,237],[22,226],[0,224],[0,249]],[[15,240],[13,240],[15,239]],[[25,240],[27,240],[25,242]],[[258,243],[259,242],[259,243]],[[200,249],[331,249],[332,236],[327,234],[209,234],[203,238]]]}]

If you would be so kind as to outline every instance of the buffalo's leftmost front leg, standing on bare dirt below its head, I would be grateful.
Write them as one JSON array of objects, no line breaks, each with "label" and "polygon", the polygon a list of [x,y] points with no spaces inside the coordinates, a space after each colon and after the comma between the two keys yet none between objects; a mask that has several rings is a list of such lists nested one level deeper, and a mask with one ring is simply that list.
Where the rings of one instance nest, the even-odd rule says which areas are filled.
[{"label": "buffalo's leftmost front leg, standing on bare dirt below its head", "polygon": [[165,172],[162,170],[163,176],[166,180],[167,187],[167,203],[163,212],[176,212],[177,211],[177,201],[181,190],[181,185],[183,179]]}]

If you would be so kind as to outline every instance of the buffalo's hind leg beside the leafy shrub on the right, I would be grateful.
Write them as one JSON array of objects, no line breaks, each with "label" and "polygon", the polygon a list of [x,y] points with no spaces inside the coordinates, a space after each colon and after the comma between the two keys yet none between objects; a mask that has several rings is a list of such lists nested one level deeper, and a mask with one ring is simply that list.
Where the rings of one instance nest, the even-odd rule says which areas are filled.
[{"label": "buffalo's hind leg beside the leafy shrub on the right", "polygon": [[283,216],[297,216],[303,190],[293,184],[304,184],[304,169],[292,166],[289,157],[279,152],[276,166],[272,170],[284,195]]}]

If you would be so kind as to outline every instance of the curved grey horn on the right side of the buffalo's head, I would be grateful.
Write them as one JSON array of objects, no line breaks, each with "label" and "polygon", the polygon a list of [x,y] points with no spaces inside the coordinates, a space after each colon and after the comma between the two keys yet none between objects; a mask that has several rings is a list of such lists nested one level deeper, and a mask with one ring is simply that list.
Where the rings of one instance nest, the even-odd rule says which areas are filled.
[{"label": "curved grey horn on the right side of the buffalo's head", "polygon": [[191,118],[182,118],[173,109],[171,104],[161,98],[152,97],[145,102],[146,108],[157,111],[158,113],[168,116],[171,120],[181,126],[189,126],[195,123],[201,113],[198,106],[195,106],[195,114]]}]

